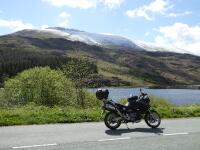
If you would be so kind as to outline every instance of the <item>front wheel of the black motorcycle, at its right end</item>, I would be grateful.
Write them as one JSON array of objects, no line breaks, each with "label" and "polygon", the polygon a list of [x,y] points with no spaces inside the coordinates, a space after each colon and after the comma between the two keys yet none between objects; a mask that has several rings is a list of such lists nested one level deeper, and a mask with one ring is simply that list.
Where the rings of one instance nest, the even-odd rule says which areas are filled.
[{"label": "front wheel of the black motorcycle, at its right end", "polygon": [[146,113],[144,120],[146,124],[151,128],[157,128],[161,123],[160,115],[154,110]]}]

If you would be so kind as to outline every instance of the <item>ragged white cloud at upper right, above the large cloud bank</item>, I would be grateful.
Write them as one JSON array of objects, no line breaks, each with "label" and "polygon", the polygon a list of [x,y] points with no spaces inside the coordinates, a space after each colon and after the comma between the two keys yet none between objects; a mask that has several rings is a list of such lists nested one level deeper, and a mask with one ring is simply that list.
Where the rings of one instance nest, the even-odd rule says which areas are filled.
[{"label": "ragged white cloud at upper right, above the large cloud bank", "polygon": [[147,20],[153,20],[153,17],[151,17],[150,14],[163,14],[170,8],[172,8],[172,5],[169,4],[168,0],[154,0],[149,5],[144,5],[133,10],[127,10],[126,15],[130,18],[144,17]]}]

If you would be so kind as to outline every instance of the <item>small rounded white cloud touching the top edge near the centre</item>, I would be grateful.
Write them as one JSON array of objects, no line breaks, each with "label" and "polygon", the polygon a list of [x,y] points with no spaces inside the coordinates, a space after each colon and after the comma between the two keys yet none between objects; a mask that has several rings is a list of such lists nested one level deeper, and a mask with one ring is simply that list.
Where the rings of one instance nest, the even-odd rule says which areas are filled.
[{"label": "small rounded white cloud touching the top edge near the centre", "polygon": [[109,9],[120,7],[125,0],[101,0],[105,7]]}]

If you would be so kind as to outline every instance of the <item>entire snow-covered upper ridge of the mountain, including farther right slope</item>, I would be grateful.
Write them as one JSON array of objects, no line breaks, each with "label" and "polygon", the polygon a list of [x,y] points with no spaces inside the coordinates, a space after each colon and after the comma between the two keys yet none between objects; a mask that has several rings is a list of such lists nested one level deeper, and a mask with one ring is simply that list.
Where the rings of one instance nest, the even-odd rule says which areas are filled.
[{"label": "entire snow-covered upper ridge of the mountain, including farther right slope", "polygon": [[[37,34],[39,33],[39,34]],[[42,34],[40,34],[42,33]],[[116,49],[133,49],[146,51],[161,51],[161,52],[176,52],[188,53],[190,52],[175,48],[172,46],[159,46],[154,43],[147,43],[143,41],[131,40],[126,37],[111,35],[111,34],[96,34],[76,29],[68,29],[61,27],[50,27],[41,30],[23,30],[16,32],[15,35],[31,36],[41,38],[65,38],[71,41],[80,41],[89,45],[98,45],[106,48]]]}]

